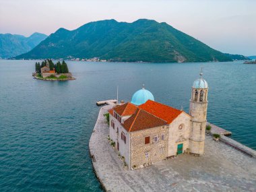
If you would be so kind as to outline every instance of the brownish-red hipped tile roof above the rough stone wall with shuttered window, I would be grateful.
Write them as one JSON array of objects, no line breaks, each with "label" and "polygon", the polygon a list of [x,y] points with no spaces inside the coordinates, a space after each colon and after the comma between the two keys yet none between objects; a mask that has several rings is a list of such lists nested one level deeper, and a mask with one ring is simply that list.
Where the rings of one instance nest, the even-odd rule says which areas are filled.
[{"label": "brownish-red hipped tile roof above the rough stone wall with shuttered window", "polygon": [[135,113],[129,117],[123,124],[126,131],[139,131],[143,129],[149,129],[153,127],[159,127],[163,125],[168,125],[168,123],[150,113],[146,110],[137,108]]}]

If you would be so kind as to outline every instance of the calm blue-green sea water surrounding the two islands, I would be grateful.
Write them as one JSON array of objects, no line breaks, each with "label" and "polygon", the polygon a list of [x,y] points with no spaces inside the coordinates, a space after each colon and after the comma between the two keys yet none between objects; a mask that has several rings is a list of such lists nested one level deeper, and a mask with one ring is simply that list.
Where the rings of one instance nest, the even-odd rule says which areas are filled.
[{"label": "calm blue-green sea water surrounding the two islands", "polygon": [[256,150],[256,65],[69,61],[75,81],[44,82],[32,78],[34,62],[0,60],[1,191],[102,191],[88,152],[95,102],[116,98],[117,86],[129,101],[144,83],[156,101],[188,112],[200,67],[207,120]]}]

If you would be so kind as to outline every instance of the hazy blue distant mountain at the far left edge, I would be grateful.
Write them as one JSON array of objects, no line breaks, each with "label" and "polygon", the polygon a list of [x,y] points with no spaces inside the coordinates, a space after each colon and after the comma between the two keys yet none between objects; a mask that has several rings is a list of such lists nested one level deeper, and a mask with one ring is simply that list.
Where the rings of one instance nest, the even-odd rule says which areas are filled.
[{"label": "hazy blue distant mountain at the far left edge", "polygon": [[29,37],[18,34],[0,34],[0,57],[15,57],[27,53],[47,36],[35,32]]}]

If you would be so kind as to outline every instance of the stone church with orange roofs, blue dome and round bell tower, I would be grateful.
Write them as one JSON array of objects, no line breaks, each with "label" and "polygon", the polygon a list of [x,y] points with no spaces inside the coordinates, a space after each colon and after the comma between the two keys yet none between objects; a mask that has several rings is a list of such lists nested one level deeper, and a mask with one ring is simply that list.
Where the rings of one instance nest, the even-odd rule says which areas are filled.
[{"label": "stone church with orange roofs, blue dome and round bell tower", "polygon": [[208,85],[202,75],[193,83],[189,114],[154,101],[145,88],[108,110],[110,139],[129,169],[183,153],[203,155]]}]

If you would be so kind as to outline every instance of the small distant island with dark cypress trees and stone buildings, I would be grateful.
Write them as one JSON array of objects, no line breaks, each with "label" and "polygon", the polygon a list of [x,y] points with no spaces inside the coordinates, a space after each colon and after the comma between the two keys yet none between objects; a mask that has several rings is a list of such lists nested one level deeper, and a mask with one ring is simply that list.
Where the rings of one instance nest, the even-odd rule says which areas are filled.
[{"label": "small distant island with dark cypress trees and stone buildings", "polygon": [[36,79],[46,80],[46,81],[66,81],[75,79],[72,74],[69,73],[69,68],[65,61],[58,61],[56,64],[53,63],[51,59],[47,59],[40,62],[36,62],[36,71],[32,73],[33,77]]}]

